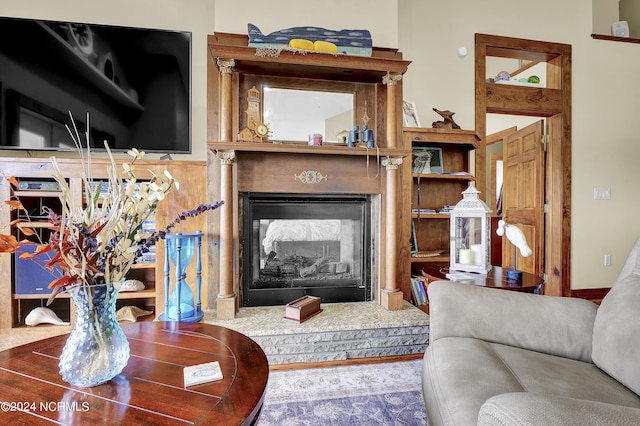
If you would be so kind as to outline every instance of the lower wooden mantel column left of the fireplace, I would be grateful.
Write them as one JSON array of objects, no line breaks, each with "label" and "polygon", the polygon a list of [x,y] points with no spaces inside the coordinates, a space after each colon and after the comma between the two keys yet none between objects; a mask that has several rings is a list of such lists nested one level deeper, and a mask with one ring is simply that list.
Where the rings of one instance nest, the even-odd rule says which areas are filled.
[{"label": "lower wooden mantel column left of the fireplace", "polygon": [[235,151],[218,151],[220,159],[220,192],[224,204],[220,207],[220,287],[217,298],[218,319],[236,316],[236,293],[233,275],[233,163]]}]

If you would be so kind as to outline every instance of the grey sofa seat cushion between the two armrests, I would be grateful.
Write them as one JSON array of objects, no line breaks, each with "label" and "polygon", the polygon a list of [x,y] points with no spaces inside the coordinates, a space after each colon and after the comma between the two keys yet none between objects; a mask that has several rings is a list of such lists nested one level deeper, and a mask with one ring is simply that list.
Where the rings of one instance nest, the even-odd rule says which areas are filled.
[{"label": "grey sofa seat cushion between the two armrests", "polygon": [[430,425],[475,424],[489,398],[511,392],[640,408],[640,397],[594,364],[467,337],[429,345],[422,383]]}]

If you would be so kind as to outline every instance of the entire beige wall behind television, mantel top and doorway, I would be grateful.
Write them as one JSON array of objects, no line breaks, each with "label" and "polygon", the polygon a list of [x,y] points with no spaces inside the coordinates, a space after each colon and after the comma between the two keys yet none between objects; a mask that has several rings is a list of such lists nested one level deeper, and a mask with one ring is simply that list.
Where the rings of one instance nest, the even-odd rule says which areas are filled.
[{"label": "entire beige wall behind television, mantel top and doorway", "polygon": [[[640,231],[640,45],[593,40],[592,8],[583,0],[0,0],[0,15],[192,31],[190,159],[206,150],[205,46],[214,30],[245,33],[249,22],[265,33],[298,25],[369,29],[375,45],[399,47],[413,61],[405,98],[416,103],[423,125],[439,119],[436,107],[455,111],[465,129],[474,128],[475,33],[571,44],[572,287],[610,286]],[[469,54],[459,58],[458,47]],[[611,201],[594,201],[596,187],[610,187]],[[603,265],[605,254],[611,267]]]}]

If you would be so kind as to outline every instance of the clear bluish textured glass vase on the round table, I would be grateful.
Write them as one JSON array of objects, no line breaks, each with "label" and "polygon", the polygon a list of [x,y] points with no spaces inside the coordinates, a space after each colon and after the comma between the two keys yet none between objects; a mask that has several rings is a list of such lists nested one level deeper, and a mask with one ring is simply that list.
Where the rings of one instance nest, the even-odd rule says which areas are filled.
[{"label": "clear bluish textured glass vase on the round table", "polygon": [[119,290],[119,283],[77,285],[67,290],[75,320],[60,355],[60,375],[65,382],[96,386],[127,365],[129,342],[115,312]]}]

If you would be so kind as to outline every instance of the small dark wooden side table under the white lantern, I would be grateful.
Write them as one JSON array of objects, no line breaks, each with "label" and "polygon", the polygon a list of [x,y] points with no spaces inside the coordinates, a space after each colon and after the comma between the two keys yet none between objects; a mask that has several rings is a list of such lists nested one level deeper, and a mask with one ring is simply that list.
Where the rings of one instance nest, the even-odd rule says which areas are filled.
[{"label": "small dark wooden side table under the white lantern", "polygon": [[[438,265],[425,265],[422,268],[423,274],[429,279],[434,280],[446,280],[446,274],[449,272],[449,267]],[[507,279],[506,269],[500,266],[492,266],[491,271],[485,276],[481,274],[473,275],[473,280],[467,280],[470,283],[483,287],[501,288],[505,290],[524,291],[528,293],[542,294],[544,290],[544,280],[534,274],[527,272],[522,273],[522,281],[513,281]]]}]

